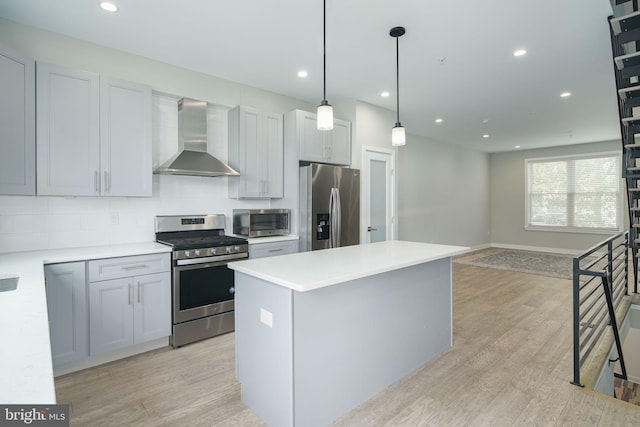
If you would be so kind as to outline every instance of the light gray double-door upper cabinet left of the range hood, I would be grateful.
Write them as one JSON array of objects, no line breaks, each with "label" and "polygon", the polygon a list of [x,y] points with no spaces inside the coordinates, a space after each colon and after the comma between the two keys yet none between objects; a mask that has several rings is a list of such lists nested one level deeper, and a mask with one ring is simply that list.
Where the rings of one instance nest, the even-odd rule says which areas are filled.
[{"label": "light gray double-door upper cabinet left of the range hood", "polygon": [[38,62],[37,192],[151,196],[151,88]]}]

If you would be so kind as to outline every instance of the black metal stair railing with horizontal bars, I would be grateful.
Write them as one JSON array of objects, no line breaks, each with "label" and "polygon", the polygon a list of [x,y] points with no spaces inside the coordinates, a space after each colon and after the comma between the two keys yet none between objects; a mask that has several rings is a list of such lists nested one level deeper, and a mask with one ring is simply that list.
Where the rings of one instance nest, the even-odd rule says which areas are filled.
[{"label": "black metal stair railing with horizontal bars", "polygon": [[581,368],[611,326],[620,358],[621,374],[627,379],[616,316],[628,294],[627,231],[593,246],[573,258],[573,381],[581,383]]}]

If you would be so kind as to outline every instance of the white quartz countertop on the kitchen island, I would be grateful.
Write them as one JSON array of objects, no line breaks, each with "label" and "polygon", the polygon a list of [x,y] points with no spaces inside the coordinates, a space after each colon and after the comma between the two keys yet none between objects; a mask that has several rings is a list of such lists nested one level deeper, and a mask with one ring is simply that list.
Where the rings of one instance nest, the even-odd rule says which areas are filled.
[{"label": "white quartz countertop on the kitchen island", "polygon": [[463,246],[391,240],[278,257],[238,261],[229,267],[295,291],[410,267],[468,251]]}]

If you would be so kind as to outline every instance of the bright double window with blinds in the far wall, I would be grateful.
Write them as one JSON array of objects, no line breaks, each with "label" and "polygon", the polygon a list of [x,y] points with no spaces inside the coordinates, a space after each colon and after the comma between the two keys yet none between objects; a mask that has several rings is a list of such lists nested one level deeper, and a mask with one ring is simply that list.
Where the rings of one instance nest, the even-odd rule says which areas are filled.
[{"label": "bright double window with blinds in the far wall", "polygon": [[609,232],[621,228],[618,153],[526,159],[530,230]]}]

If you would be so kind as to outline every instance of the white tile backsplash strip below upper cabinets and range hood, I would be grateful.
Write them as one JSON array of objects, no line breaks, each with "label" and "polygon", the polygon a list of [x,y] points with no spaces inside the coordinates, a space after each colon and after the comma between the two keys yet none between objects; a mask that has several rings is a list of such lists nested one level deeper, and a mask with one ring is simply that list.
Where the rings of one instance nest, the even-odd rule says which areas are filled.
[{"label": "white tile backsplash strip below upper cabinets and range hood", "polygon": [[154,175],[153,197],[0,196],[0,253],[155,240],[156,215],[222,213],[268,200],[227,199],[227,177]]}]

